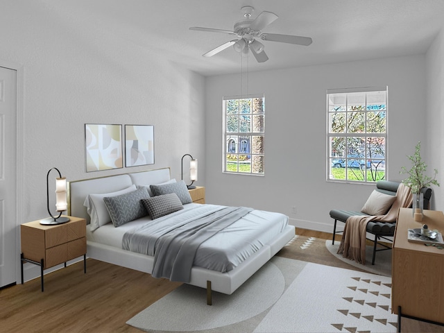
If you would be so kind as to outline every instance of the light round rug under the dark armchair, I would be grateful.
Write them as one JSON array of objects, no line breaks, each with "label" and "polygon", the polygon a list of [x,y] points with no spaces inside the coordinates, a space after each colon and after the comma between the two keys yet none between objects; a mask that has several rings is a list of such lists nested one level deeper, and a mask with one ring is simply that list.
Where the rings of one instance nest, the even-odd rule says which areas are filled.
[{"label": "light round rug under the dark armchair", "polygon": [[373,257],[373,246],[366,246],[366,264],[358,264],[354,260],[346,259],[342,255],[338,255],[338,248],[341,241],[334,241],[334,245],[332,245],[332,241],[327,239],[325,241],[325,246],[327,250],[332,253],[336,258],[360,268],[364,271],[368,271],[370,273],[382,274],[385,276],[391,276],[391,250],[378,251],[375,257],[375,264],[372,265],[372,257]]}]

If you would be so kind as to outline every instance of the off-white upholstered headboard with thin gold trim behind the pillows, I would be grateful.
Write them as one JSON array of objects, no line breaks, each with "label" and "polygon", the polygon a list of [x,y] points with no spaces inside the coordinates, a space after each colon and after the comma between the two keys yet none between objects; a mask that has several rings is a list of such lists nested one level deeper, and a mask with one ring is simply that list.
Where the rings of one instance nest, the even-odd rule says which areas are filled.
[{"label": "off-white upholstered headboard with thin gold trim behind the pillows", "polygon": [[68,215],[81,217],[89,223],[87,208],[83,205],[89,194],[104,194],[126,189],[131,185],[155,185],[170,180],[170,169],[155,169],[123,173],[68,182]]}]

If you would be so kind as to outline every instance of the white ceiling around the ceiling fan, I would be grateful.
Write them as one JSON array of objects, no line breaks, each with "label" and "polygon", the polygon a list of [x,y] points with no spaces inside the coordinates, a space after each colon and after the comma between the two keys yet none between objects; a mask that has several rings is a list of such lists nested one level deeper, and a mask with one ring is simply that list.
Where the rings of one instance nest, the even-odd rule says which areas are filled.
[{"label": "white ceiling around the ceiling fan", "polygon": [[[212,58],[202,54],[232,35],[190,31],[191,26],[232,30],[253,6],[279,18],[266,33],[307,36],[310,46],[264,41],[269,60],[248,60],[250,71],[425,53],[443,26],[444,0],[44,0],[51,11],[70,12],[91,33],[112,33],[159,52],[205,76],[239,71],[232,47]],[[244,61],[244,66],[246,62]]]}]

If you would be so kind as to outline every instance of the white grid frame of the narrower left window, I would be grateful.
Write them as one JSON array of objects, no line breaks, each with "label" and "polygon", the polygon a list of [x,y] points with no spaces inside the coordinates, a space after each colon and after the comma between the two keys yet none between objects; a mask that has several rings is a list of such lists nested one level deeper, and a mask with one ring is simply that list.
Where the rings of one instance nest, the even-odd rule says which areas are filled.
[{"label": "white grid frame of the narrower left window", "polygon": [[[241,112],[240,106],[239,110],[235,114],[229,114],[227,112],[227,103],[228,101],[241,101],[250,99],[250,112]],[[255,113],[253,111],[253,99],[262,99],[262,112]],[[239,103],[240,105],[240,103]],[[242,132],[241,131],[241,117],[242,116],[250,117],[250,131]],[[246,96],[223,96],[222,103],[222,172],[230,173],[235,175],[244,175],[244,176],[264,176],[265,175],[265,95],[264,94],[250,94]],[[237,132],[229,132],[228,131],[228,117],[237,117]],[[262,131],[254,131],[254,117],[262,118]],[[262,138],[261,138],[262,137]],[[261,148],[262,151],[256,152],[253,148],[254,139],[262,142]],[[234,152],[232,151],[232,142],[234,142],[235,148]],[[241,146],[242,145],[242,146]],[[241,151],[242,148],[242,151]],[[245,150],[246,149],[246,150]],[[235,164],[236,170],[228,170],[228,155],[235,155],[235,160],[232,164]],[[249,160],[250,162],[245,164],[250,164],[249,171],[240,171],[239,166],[242,164],[241,160]],[[255,166],[258,168],[258,171],[255,171]],[[262,171],[262,172],[261,172]]]}]

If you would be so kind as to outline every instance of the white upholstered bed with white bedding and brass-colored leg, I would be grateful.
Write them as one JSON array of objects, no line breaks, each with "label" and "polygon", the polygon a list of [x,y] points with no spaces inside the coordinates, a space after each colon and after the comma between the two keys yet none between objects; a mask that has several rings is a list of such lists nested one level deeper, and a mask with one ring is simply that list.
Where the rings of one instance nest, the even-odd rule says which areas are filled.
[{"label": "white upholstered bed with white bedding and brass-colored leg", "polygon": [[[99,208],[103,210],[103,207],[99,206],[103,205],[102,201],[108,200],[108,207],[112,207],[110,204],[112,204],[114,198],[126,196],[128,191],[135,195],[135,189],[139,191],[139,189],[145,188],[148,191],[150,198],[146,199],[147,204],[148,200],[160,200],[160,198],[171,198],[172,196],[174,197],[173,200],[176,200],[174,202],[177,203],[177,197],[182,200],[179,191],[177,197],[176,194],[164,194],[162,191],[171,188],[178,189],[180,183],[171,179],[169,168],[69,182],[68,214],[84,218],[87,221],[87,256],[155,276],[153,274],[157,272],[155,262],[160,260],[157,255],[155,256],[153,253],[148,255],[148,252],[137,253],[133,252],[135,249],[128,248],[128,244],[133,244],[133,239],[128,237],[132,237],[134,230],[148,229],[149,232],[149,229],[154,228],[153,225],[156,224],[165,228],[164,226],[168,223],[185,221],[185,219],[191,219],[190,216],[208,216],[209,211],[221,212],[230,209],[232,211],[236,210],[236,212],[239,211],[238,208],[201,205],[185,201],[182,205],[178,204],[180,208],[177,208],[171,214],[161,214],[159,217],[155,216],[157,212],[148,210],[148,208],[151,209],[151,206],[146,205],[148,212],[157,217],[156,219],[151,219],[148,214],[148,216],[127,221],[119,225],[118,228],[114,227],[114,223],[118,222],[119,219],[112,219],[112,222],[107,222],[107,219],[102,218],[105,216],[103,211],[100,212],[99,210]],[[151,187],[151,185],[155,186]],[[160,196],[154,196],[153,191],[159,190],[160,193],[154,194],[160,194]],[[97,206],[92,204],[93,198]],[[92,212],[92,206],[96,208],[95,212]],[[112,210],[109,210],[108,214],[113,215]],[[234,213],[230,212],[230,214]],[[247,210],[242,214],[244,215],[237,221],[228,223],[228,226],[222,228],[198,246],[199,253],[203,253],[203,255],[196,255],[189,272],[189,278],[183,281],[197,287],[206,288],[207,304],[209,305],[212,302],[212,291],[228,295],[233,293],[295,235],[294,226],[288,224],[288,216],[284,214],[262,210]],[[113,215],[113,217],[115,216]],[[108,215],[109,219],[110,215]],[[254,228],[251,228],[251,225],[254,225]],[[239,230],[246,229],[249,230],[246,238],[241,239],[240,236],[236,236]],[[123,244],[128,249],[124,249]],[[227,253],[218,257],[218,248],[221,250],[225,248]],[[199,257],[203,259],[200,260]],[[226,264],[221,263],[221,257],[227,261]]]}]

